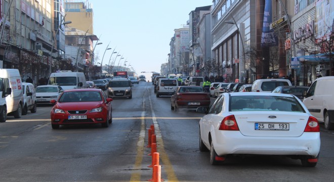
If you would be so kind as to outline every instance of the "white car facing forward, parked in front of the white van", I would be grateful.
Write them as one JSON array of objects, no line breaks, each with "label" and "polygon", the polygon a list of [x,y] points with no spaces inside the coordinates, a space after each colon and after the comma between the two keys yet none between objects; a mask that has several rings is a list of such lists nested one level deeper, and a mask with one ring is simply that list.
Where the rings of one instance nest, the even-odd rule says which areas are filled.
[{"label": "white car facing forward, parked in front of the white van", "polygon": [[36,104],[52,104],[51,100],[57,100],[64,92],[59,85],[39,85],[36,87]]}]

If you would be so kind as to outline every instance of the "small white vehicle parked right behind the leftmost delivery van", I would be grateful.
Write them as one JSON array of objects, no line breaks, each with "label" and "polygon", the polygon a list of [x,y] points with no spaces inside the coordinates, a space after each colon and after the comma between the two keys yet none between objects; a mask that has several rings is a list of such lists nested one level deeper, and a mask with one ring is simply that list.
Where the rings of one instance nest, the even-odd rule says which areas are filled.
[{"label": "small white vehicle parked right behind the leftmost delivery van", "polygon": [[31,113],[37,111],[36,91],[32,83],[22,82],[23,89],[23,108],[22,115],[26,115],[28,110]]}]

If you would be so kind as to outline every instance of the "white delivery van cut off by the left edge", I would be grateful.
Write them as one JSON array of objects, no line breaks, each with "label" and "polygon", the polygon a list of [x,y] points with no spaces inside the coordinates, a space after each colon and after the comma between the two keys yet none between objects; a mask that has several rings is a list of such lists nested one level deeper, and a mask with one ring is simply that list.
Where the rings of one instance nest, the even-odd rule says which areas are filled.
[{"label": "white delivery van cut off by the left edge", "polygon": [[19,70],[0,69],[0,78],[0,90],[2,94],[0,99],[0,122],[5,122],[7,115],[14,115],[15,118],[21,118],[23,106],[23,88]]}]

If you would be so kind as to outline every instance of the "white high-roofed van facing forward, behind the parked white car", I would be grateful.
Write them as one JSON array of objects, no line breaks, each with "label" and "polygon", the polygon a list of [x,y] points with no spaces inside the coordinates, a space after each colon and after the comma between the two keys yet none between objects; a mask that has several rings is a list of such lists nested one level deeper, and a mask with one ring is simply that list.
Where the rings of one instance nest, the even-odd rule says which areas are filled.
[{"label": "white high-roofed van facing forward, behind the parked white car", "polygon": [[60,71],[51,73],[48,84],[59,85],[63,90],[86,88],[86,77],[82,72]]}]

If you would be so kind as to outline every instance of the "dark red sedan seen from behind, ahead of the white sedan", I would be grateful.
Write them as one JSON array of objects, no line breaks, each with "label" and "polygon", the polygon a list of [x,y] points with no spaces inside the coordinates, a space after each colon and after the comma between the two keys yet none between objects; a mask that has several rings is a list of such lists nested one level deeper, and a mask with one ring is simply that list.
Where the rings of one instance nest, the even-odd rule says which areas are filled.
[{"label": "dark red sedan seen from behind, ahead of the white sedan", "polygon": [[210,107],[210,95],[202,86],[179,86],[171,97],[171,109],[196,109],[197,107]]}]

